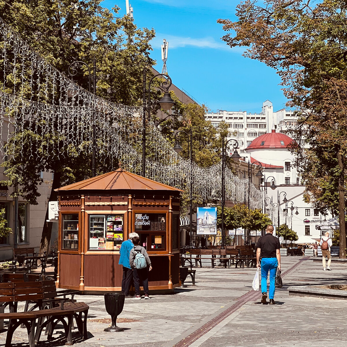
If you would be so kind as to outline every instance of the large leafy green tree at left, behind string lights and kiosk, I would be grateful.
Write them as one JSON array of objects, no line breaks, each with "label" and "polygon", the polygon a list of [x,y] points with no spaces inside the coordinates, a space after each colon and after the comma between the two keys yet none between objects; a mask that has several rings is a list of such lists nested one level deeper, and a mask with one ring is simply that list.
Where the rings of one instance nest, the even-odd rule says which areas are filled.
[{"label": "large leafy green tree at left, behind string lights and kiosk", "polygon": [[[69,64],[82,60],[92,67],[96,59],[97,94],[107,100],[128,105],[140,105],[142,99],[142,74],[154,61],[149,57],[149,41],[154,37],[153,29],[139,29],[128,17],[116,17],[119,8],[110,11],[100,6],[101,0],[45,0],[0,1],[2,18],[46,61],[60,71],[66,72]],[[0,62],[1,64],[1,62]],[[87,88],[87,70],[75,81]],[[3,79],[1,74],[1,79]],[[29,76],[28,76],[29,77]],[[37,95],[22,86],[24,98],[36,100]],[[6,90],[11,93],[11,90]],[[51,103],[48,99],[42,102]],[[16,139],[27,139],[25,155],[20,153]],[[32,140],[32,141],[31,141]],[[3,163],[7,166],[7,181],[3,184],[14,185],[18,182],[18,195],[30,204],[37,204],[38,185],[42,184],[41,171],[52,170],[54,179],[50,201],[57,199],[54,189],[63,184],[90,177],[91,155],[78,154],[77,148],[70,147],[61,153],[59,159],[45,152],[45,144],[54,143],[54,148],[62,148],[64,138],[58,136],[40,137],[32,129],[24,129],[11,138],[8,146],[14,149],[14,155]],[[31,144],[31,145],[29,145]],[[35,147],[32,144],[36,144]],[[55,153],[57,154],[57,153]],[[103,158],[99,158],[104,162]],[[108,169],[108,162],[99,173]],[[45,220],[48,219],[48,209]],[[42,230],[40,253],[48,250],[51,235],[51,223]]]}]

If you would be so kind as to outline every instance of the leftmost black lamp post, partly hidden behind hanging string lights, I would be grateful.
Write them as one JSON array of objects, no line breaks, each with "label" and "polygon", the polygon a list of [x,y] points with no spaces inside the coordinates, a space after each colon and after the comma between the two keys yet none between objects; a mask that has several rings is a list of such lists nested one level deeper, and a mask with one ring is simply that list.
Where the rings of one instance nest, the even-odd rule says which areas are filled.
[{"label": "leftmost black lamp post, partly hidden behind hanging string lights", "polygon": [[[74,61],[72,62],[68,69],[67,72],[69,74],[69,76],[71,76],[72,78],[74,76],[77,75],[77,70],[73,67],[77,64],[82,64],[85,65],[88,69],[88,90],[91,90],[91,71],[90,71],[90,67],[88,66],[87,63],[85,63],[84,61]],[[67,94],[70,98],[74,98],[76,96],[76,89],[71,87],[67,90]],[[93,59],[93,94],[96,95],[96,60]],[[96,176],[96,141],[95,141],[95,123],[93,123],[93,134],[92,134],[92,142],[93,142],[93,156],[92,156],[92,177]]]}]

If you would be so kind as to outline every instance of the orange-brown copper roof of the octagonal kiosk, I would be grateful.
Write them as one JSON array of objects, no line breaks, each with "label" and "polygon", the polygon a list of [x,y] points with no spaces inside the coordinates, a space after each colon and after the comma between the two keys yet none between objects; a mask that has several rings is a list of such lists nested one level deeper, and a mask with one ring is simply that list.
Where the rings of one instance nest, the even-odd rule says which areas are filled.
[{"label": "orange-brown copper roof of the octagonal kiosk", "polygon": [[176,191],[181,189],[167,186],[151,179],[132,174],[131,172],[118,169],[100,176],[92,177],[55,189],[61,191],[103,191],[103,190],[148,190],[148,191]]}]

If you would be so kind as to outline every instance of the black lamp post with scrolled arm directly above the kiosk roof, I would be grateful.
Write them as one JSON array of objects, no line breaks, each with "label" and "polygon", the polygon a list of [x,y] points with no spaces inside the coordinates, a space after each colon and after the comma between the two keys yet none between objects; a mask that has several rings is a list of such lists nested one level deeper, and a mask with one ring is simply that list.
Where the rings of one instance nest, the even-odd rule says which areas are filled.
[{"label": "black lamp post with scrolled arm directly above the kiosk roof", "polygon": [[[172,106],[175,105],[175,101],[171,99],[169,94],[169,88],[172,85],[170,76],[165,74],[157,74],[150,79],[148,85],[148,116],[151,114],[151,83],[154,78],[162,76],[166,78],[164,82],[161,83],[161,88],[165,90],[164,96],[159,100],[160,107],[163,110],[170,110]],[[146,68],[143,69],[143,116],[142,116],[142,176],[146,177]]]}]

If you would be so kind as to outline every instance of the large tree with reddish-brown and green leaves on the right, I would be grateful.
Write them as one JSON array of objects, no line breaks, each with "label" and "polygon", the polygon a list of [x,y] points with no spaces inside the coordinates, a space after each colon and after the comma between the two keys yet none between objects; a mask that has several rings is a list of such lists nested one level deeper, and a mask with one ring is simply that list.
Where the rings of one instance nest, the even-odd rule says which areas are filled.
[{"label": "large tree with reddish-brown and green leaves on the right", "polygon": [[[318,160],[322,159],[318,167],[325,165],[322,172],[311,172],[317,178],[309,182],[314,201],[322,202],[321,193],[328,191],[319,188],[321,178],[333,174],[330,183],[331,187],[337,184],[340,256],[346,258],[346,2],[265,0],[261,5],[255,0],[246,0],[237,6],[236,15],[235,22],[218,20],[223,29],[231,31],[223,40],[231,47],[246,46],[245,57],[264,62],[281,77],[283,92],[289,99],[287,106],[298,109],[296,139],[305,136],[311,146],[309,151],[295,143],[291,146],[303,176],[309,175],[310,166],[306,168],[303,164],[310,160],[311,153]],[[319,153],[332,156],[335,162],[324,162]],[[323,209],[328,206],[323,205]]]}]

